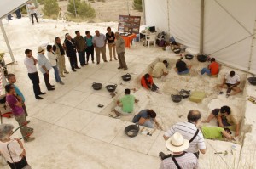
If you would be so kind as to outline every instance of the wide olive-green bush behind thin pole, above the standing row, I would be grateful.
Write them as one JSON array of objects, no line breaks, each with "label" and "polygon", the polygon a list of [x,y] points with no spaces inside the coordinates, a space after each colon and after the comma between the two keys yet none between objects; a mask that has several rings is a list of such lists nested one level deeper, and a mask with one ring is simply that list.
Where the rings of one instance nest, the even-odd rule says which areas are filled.
[{"label": "wide olive-green bush behind thin pole, above the standing row", "polygon": [[[82,18],[94,18],[96,17],[96,12],[94,8],[90,6],[90,3],[81,2],[80,0],[74,0],[76,12]],[[69,0],[67,6],[67,11],[75,15],[75,8],[73,6],[73,0]]]}]

